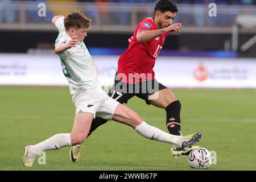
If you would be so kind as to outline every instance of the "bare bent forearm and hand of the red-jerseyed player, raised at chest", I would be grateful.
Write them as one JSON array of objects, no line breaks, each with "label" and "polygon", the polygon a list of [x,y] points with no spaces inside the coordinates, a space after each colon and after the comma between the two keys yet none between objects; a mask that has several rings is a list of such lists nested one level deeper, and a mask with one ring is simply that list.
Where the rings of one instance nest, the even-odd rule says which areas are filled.
[{"label": "bare bent forearm and hand of the red-jerseyed player, raised at chest", "polygon": [[181,28],[181,23],[174,23],[171,26],[166,28],[160,28],[158,30],[142,30],[138,31],[136,35],[136,39],[139,43],[146,43],[152,39],[157,38],[159,35],[170,33],[170,32],[178,32]]}]

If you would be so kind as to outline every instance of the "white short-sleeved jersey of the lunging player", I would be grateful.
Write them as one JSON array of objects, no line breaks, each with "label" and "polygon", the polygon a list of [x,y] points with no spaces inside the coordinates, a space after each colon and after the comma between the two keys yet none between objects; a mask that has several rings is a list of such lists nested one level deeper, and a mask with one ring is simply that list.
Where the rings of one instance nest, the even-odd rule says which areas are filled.
[{"label": "white short-sleeved jersey of the lunging player", "polygon": [[[55,41],[55,47],[60,43],[68,43],[71,37],[65,32],[64,17],[56,20],[55,26],[59,29],[59,35]],[[102,91],[96,68],[92,57],[84,42],[61,53],[61,68],[69,82],[69,90],[72,95],[84,90]]]}]

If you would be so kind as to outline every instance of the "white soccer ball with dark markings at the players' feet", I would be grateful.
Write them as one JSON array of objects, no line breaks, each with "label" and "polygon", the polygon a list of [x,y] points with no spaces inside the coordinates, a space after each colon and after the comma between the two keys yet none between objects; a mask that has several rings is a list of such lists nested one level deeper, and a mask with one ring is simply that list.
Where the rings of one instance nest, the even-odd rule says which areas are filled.
[{"label": "white soccer ball with dark markings at the players' feet", "polygon": [[193,149],[188,155],[188,164],[192,168],[209,168],[212,164],[210,152],[203,147]]}]

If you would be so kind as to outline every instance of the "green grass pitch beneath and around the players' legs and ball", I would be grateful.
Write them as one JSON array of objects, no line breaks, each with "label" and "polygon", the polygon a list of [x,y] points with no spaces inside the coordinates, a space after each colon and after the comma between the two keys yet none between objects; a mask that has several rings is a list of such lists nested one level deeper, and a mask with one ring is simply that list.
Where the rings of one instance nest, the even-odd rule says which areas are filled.
[{"label": "green grass pitch beneath and around the players' legs and ball", "polygon": [[[181,101],[182,133],[200,131],[199,144],[216,151],[207,170],[256,170],[256,90],[174,89]],[[0,170],[195,170],[187,156],[174,158],[170,144],[141,137],[110,121],[84,143],[78,163],[70,147],[46,152],[46,165],[22,165],[22,148],[53,134],[69,133],[75,108],[64,87],[0,86]],[[128,106],[150,125],[166,129],[163,109],[133,98]]]}]

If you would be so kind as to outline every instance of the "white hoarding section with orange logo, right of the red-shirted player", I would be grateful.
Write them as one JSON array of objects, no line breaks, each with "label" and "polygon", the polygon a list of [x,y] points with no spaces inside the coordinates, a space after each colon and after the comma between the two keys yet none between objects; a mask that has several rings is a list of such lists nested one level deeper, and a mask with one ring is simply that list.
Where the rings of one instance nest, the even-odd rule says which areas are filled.
[{"label": "white hoarding section with orange logo, right of the red-shirted player", "polygon": [[256,59],[161,57],[159,81],[184,88],[256,88]]}]

